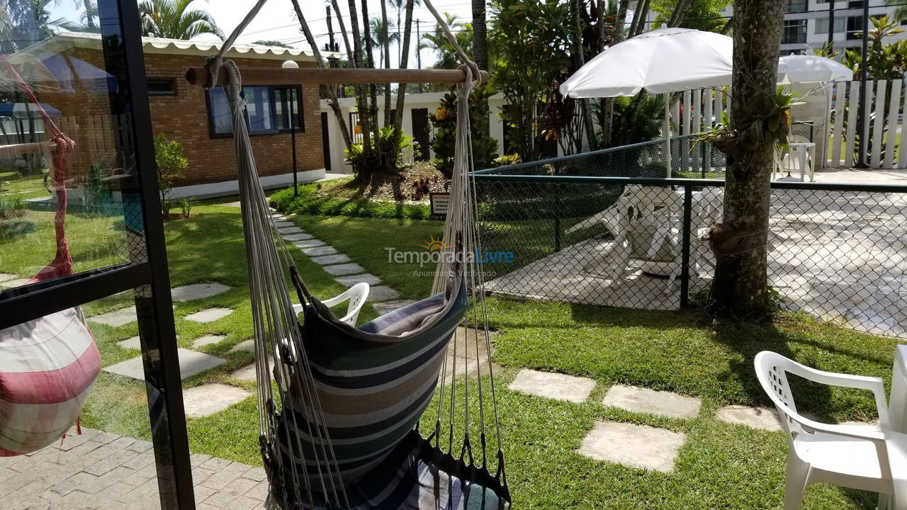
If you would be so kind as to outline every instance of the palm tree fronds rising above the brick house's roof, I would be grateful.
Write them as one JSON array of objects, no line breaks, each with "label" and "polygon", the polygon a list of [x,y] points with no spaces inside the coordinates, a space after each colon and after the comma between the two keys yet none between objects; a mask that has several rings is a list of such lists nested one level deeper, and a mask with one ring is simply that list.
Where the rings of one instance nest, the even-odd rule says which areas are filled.
[{"label": "palm tree fronds rising above the brick house's roof", "polygon": [[189,9],[193,1],[142,0],[139,4],[142,35],[191,39],[201,34],[213,34],[222,41],[224,34],[209,13]]}]

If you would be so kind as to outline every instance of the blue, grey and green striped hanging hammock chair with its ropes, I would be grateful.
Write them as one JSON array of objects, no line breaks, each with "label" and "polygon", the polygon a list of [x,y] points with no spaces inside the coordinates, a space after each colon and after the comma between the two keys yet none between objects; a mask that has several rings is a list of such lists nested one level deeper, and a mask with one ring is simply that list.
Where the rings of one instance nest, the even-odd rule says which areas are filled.
[{"label": "blue, grey and green striped hanging hammock chair with its ropes", "polygon": [[[221,71],[229,78],[224,89],[233,116],[268,505],[509,509],[490,361],[484,377],[456,377],[463,372],[458,363],[491,352],[483,296],[475,291],[482,288],[482,272],[472,256],[479,240],[468,97],[478,69],[463,66],[466,81],[457,91],[444,225],[444,240],[453,246],[442,252],[433,295],[356,328],[309,292],[277,234],[249,141],[242,78],[236,64],[222,60],[263,4],[259,0],[207,66],[209,86]],[[304,305],[301,323],[288,276]],[[431,424],[422,427],[427,436],[420,434],[420,422]]]}]

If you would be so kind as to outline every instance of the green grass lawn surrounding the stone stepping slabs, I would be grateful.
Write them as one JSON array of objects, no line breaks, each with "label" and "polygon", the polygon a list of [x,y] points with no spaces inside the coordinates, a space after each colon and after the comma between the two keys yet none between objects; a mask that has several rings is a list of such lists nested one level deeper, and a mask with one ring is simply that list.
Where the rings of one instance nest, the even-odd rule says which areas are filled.
[{"label": "green grass lawn surrounding the stone stepping slabs", "polygon": [[[230,201],[230,200],[225,200]],[[220,382],[253,389],[229,377],[249,365],[248,353],[228,353],[251,336],[239,209],[208,203],[187,220],[166,224],[173,286],[218,281],[233,289],[210,299],[176,303],[180,347],[190,348],[202,335],[225,335],[200,350],[227,358],[226,366],[184,382],[184,387]],[[300,216],[299,226],[326,240],[407,299],[427,295],[431,278],[417,264],[389,261],[386,248],[423,250],[417,245],[440,237],[438,221]],[[101,229],[99,229],[100,231]],[[32,236],[34,234],[28,234]],[[44,260],[45,250],[17,245],[19,260]],[[74,244],[74,242],[73,242]],[[4,254],[7,245],[3,245]],[[307,284],[320,296],[342,287],[296,252]],[[2,271],[2,269],[0,269]],[[89,314],[123,306],[128,296],[103,299],[86,307]],[[210,307],[235,311],[207,324],[186,315]],[[727,404],[764,405],[753,374],[752,358],[772,349],[825,370],[891,376],[896,342],[785,314],[771,324],[717,324],[693,312],[606,309],[563,303],[491,299],[490,321],[496,329],[494,360],[503,366],[496,378],[507,476],[516,508],[563,509],[750,509],[778,508],[784,486],[786,440],[780,432],[762,432],[725,424],[715,417]],[[360,320],[375,316],[369,306]],[[116,342],[137,334],[134,323],[120,328],[93,325],[103,364],[139,355]],[[532,397],[507,389],[522,368],[558,371],[593,378],[597,386],[583,404]],[[629,413],[600,404],[616,383],[669,389],[700,397],[694,419],[670,419]],[[873,419],[868,394],[797,385],[798,405],[828,420]],[[84,410],[83,423],[111,432],[148,439],[150,427],[144,386],[102,373]],[[260,464],[254,397],[210,417],[190,419],[193,452]],[[577,449],[596,420],[608,419],[684,432],[673,472],[669,474],[591,460]],[[804,508],[873,508],[874,495],[818,485],[807,491]]]}]

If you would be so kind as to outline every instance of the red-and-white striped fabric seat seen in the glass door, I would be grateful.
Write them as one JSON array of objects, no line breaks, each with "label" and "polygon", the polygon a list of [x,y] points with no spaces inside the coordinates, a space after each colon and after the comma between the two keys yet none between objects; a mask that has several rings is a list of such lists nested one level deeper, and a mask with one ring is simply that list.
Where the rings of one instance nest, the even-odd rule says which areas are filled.
[{"label": "red-and-white striped fabric seat seen in the glass door", "polygon": [[0,456],[59,440],[100,371],[92,332],[75,309],[0,331]]}]

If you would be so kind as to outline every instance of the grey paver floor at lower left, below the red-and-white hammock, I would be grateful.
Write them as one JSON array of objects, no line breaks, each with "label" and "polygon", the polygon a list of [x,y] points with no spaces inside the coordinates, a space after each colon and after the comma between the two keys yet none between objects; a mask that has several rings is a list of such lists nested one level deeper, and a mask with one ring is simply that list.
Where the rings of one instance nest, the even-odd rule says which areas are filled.
[{"label": "grey paver floor at lower left, below the red-and-white hammock", "polygon": [[[9,510],[160,510],[151,443],[83,428],[29,456],[0,457],[0,500]],[[262,510],[261,467],[192,454],[198,510]]]}]

